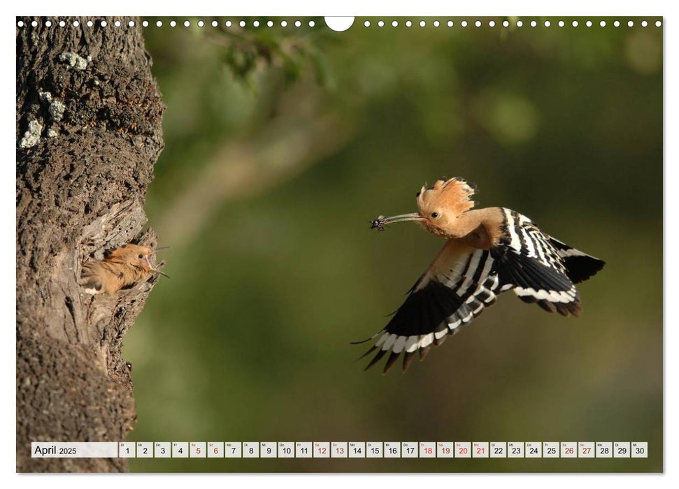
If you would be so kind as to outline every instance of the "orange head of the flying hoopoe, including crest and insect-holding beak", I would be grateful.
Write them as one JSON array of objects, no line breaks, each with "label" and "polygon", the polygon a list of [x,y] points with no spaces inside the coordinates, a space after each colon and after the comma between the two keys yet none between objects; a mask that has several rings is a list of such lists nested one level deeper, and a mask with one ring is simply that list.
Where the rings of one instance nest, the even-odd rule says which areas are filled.
[{"label": "orange head of the flying hoopoe, including crest and insect-holding beak", "polygon": [[445,229],[454,226],[455,219],[474,207],[471,198],[475,191],[476,185],[463,178],[441,178],[434,186],[422,186],[417,192],[419,212],[394,217],[380,216],[372,222],[371,227],[381,231],[394,222],[419,221],[432,233],[446,235]]}]

